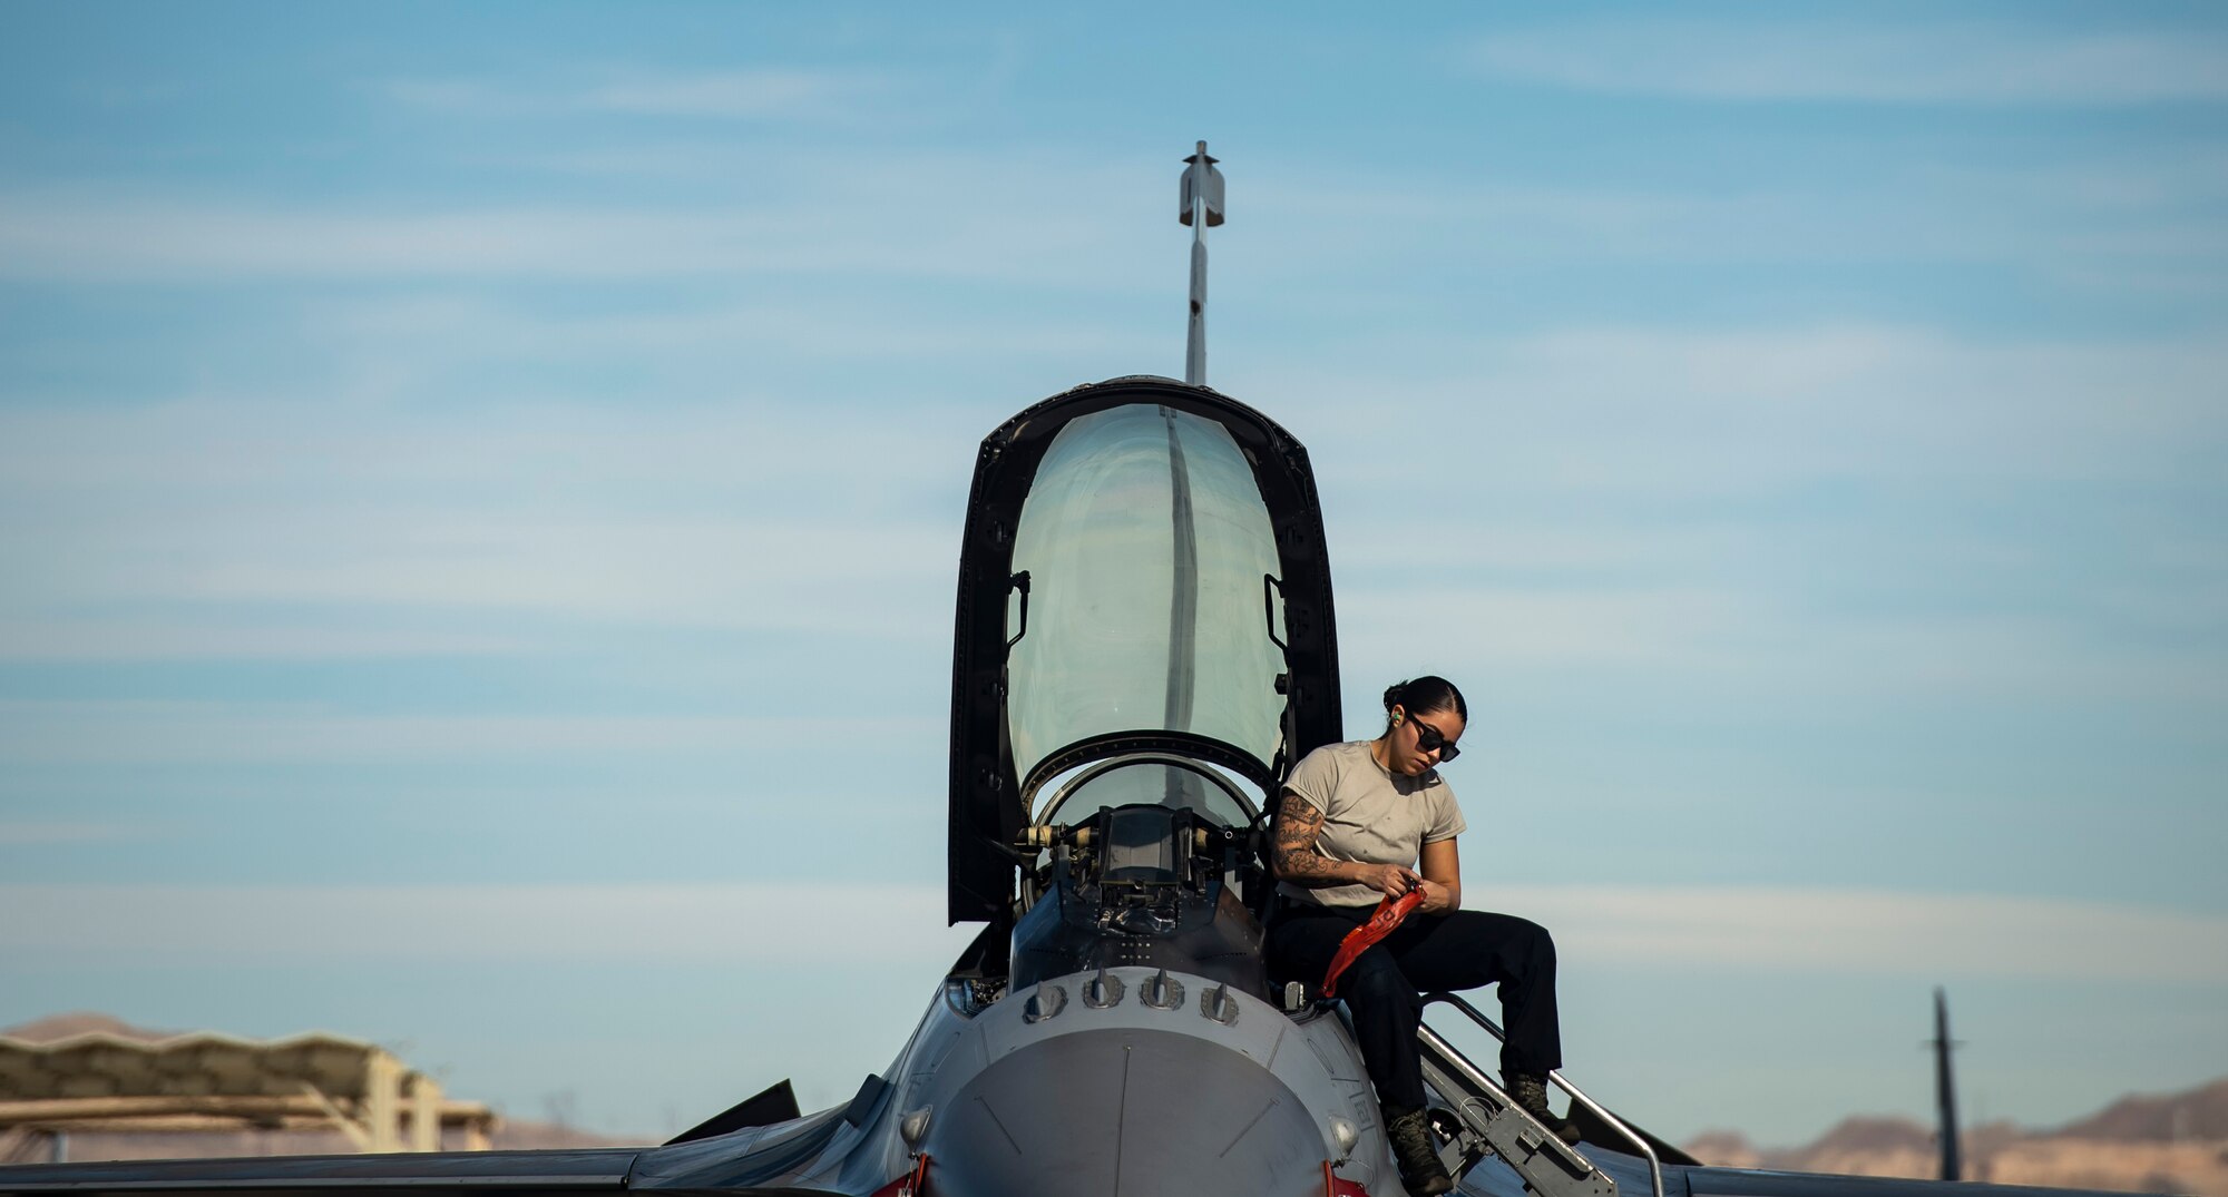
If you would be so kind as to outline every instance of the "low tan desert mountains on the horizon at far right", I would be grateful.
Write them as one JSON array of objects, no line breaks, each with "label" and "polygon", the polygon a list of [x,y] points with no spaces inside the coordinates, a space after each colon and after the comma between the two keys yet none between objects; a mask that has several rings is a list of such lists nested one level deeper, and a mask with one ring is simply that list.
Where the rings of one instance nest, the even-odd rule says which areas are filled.
[{"label": "low tan desert mountains on the horizon at far right", "polygon": [[[1843,1119],[1800,1148],[1756,1148],[1738,1130],[1684,1146],[1727,1168],[1856,1177],[1934,1177],[1941,1168],[1934,1128],[1903,1117]],[[2121,1097],[2056,1130],[1972,1126],[1961,1146],[1974,1181],[2228,1197],[2228,1077],[2188,1092]]]}]

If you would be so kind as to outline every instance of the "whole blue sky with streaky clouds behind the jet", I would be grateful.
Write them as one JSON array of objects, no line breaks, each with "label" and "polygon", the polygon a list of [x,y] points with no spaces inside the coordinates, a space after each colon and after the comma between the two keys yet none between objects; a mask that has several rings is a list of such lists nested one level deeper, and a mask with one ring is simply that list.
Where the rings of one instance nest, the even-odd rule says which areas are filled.
[{"label": "whole blue sky with streaky clouds behind the jet", "polygon": [[1673,1137],[2228,1072],[2208,4],[0,4],[0,1023],[849,1097],[940,928],[974,443],[1315,454],[1348,725]]}]

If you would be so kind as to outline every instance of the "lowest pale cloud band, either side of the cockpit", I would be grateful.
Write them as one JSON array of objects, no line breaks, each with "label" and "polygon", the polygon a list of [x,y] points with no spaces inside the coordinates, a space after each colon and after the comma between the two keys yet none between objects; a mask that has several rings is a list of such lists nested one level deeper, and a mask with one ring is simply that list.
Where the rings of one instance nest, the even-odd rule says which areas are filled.
[{"label": "lowest pale cloud band, either side of the cockpit", "polygon": [[[2228,983],[2228,914],[1994,894],[1800,888],[1473,886],[1564,957],[1664,970],[2119,977]],[[769,910],[786,910],[769,919]],[[842,928],[842,934],[831,934]],[[945,963],[969,928],[936,888],[789,886],[0,886],[0,950],[261,957],[758,959]],[[2079,957],[2068,941],[2083,943]]]}]

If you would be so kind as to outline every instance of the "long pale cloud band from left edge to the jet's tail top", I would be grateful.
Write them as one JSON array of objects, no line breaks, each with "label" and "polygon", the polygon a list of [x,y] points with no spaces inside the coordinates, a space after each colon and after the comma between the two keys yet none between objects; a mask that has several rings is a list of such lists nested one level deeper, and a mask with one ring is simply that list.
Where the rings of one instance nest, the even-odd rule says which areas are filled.
[{"label": "long pale cloud band from left edge to the jet's tail top", "polygon": [[[426,209],[285,207],[203,198],[0,194],[0,278],[717,278],[820,274],[1127,287],[1143,265],[1107,251],[1092,187],[1078,202],[1005,209],[907,165],[811,171],[780,198],[731,207],[677,202],[488,205]],[[907,202],[889,202],[889,196]],[[1165,240],[1165,238],[1163,238]],[[1152,276],[1159,278],[1154,271]]]}]

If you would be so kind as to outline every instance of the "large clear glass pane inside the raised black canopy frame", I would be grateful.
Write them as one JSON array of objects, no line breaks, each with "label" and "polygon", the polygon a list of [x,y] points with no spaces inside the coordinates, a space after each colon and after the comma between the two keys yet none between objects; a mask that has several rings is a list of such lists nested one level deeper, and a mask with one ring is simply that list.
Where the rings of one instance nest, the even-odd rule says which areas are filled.
[{"label": "large clear glass pane inside the raised black canopy frame", "polygon": [[[1192,732],[1263,768],[1281,736],[1263,576],[1277,543],[1252,467],[1214,421],[1139,403],[1054,436],[1014,534],[1014,768],[1110,732]],[[1027,612],[1023,614],[1023,603]]]}]

